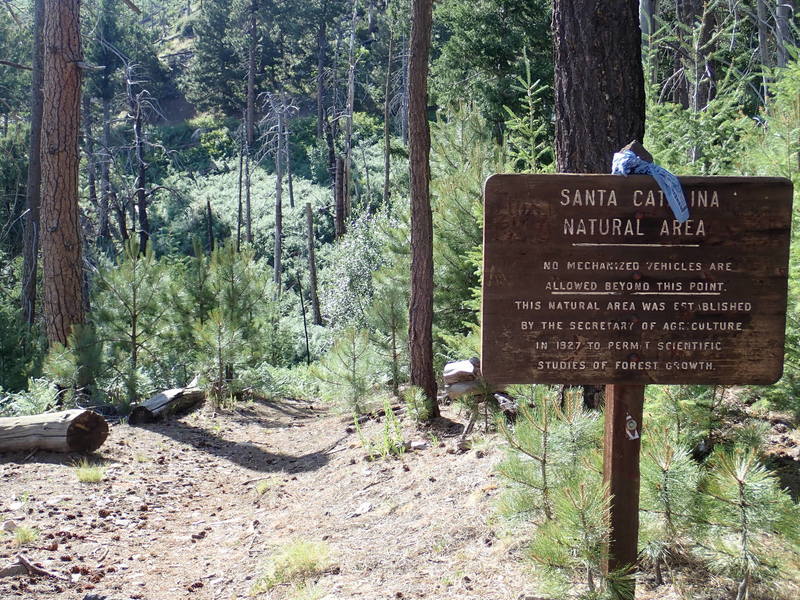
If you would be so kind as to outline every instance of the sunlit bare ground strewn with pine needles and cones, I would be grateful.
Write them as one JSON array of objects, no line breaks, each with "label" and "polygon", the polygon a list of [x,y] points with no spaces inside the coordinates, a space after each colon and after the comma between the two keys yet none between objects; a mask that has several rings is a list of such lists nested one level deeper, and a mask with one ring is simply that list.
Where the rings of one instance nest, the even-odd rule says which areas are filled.
[{"label": "sunlit bare ground strewn with pine needles and cones", "polygon": [[[2,577],[0,598],[248,598],[269,558],[303,540],[330,549],[316,586],[260,597],[533,600],[521,541],[497,533],[502,451],[488,436],[453,453],[462,417],[443,407],[428,432],[406,429],[424,447],[367,461],[347,419],[302,401],[201,408],[112,426],[90,457],[106,466],[94,484],[78,482],[78,456],[6,454],[0,521],[38,537],[20,548],[0,534],[0,569],[22,552],[62,579]],[[361,435],[382,430],[370,421]],[[679,596],[642,582],[637,597]]]}]

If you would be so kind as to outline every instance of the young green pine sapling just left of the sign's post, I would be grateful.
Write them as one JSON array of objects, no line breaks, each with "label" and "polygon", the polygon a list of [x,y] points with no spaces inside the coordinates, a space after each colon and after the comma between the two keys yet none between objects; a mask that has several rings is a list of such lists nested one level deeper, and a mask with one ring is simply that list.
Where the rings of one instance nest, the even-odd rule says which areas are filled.
[{"label": "young green pine sapling just left of the sign's post", "polygon": [[500,422],[509,445],[498,466],[508,481],[501,511],[534,524],[528,556],[552,590],[563,596],[571,578],[582,574],[587,597],[629,597],[624,574],[598,580],[609,535],[598,413],[583,407],[577,390],[528,385],[508,391],[517,398],[519,414],[513,426]]}]

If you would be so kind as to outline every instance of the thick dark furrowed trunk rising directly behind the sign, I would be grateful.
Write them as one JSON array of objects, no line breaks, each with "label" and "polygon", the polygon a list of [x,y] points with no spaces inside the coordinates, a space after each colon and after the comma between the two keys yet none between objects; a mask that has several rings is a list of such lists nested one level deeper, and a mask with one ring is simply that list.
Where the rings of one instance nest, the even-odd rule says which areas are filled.
[{"label": "thick dark furrowed trunk rising directly behind the sign", "polygon": [[562,173],[608,173],[614,152],[644,137],[638,6],[634,0],[555,0],[555,144]]}]

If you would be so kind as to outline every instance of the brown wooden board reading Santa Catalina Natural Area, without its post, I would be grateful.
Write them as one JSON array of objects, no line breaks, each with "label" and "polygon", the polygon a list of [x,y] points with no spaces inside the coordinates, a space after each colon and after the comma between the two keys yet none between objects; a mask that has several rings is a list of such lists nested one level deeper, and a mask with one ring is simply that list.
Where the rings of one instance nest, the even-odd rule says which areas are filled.
[{"label": "brown wooden board reading Santa Catalina Natural Area, without its post", "polygon": [[783,371],[792,185],[493,175],[481,370],[492,384],[769,384]]}]

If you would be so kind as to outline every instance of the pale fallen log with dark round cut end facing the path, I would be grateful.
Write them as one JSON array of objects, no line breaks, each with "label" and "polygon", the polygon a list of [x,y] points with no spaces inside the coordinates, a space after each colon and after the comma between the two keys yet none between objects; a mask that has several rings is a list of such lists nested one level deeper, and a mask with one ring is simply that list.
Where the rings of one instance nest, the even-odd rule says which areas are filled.
[{"label": "pale fallen log with dark round cut end facing the path", "polygon": [[107,437],[106,420],[96,412],[82,408],[0,418],[0,452],[93,452]]}]

